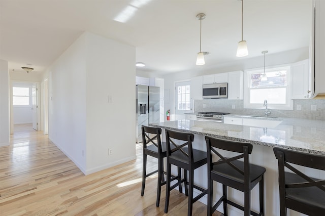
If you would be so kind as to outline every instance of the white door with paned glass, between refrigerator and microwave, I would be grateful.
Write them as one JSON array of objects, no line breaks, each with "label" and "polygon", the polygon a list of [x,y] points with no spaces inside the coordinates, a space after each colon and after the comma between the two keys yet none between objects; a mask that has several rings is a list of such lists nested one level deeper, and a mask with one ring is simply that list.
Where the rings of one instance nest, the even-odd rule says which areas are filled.
[{"label": "white door with paned glass, between refrigerator and microwave", "polygon": [[190,81],[175,83],[175,120],[185,119],[190,111]]}]

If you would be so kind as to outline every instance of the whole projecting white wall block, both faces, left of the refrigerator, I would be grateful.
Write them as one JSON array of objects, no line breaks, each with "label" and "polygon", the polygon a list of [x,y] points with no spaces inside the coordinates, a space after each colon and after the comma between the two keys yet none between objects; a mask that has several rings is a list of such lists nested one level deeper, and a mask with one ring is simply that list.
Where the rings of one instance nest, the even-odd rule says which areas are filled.
[{"label": "whole projecting white wall block, both faces, left of the refrigerator", "polygon": [[47,71],[49,138],[86,175],[136,158],[134,64],[134,47],[85,32]]}]

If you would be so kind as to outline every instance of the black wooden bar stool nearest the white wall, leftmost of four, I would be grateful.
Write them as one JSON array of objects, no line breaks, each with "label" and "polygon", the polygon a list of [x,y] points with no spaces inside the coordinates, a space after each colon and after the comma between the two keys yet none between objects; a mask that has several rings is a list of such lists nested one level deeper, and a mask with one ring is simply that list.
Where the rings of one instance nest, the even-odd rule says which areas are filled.
[{"label": "black wooden bar stool nearest the white wall, leftmost of four", "polygon": [[[164,178],[164,157],[166,157],[166,143],[161,143],[160,135],[161,128],[159,127],[149,127],[142,125],[142,144],[143,144],[143,166],[142,166],[142,187],[141,196],[144,195],[144,188],[146,184],[146,178],[158,172],[157,181],[157,200],[156,206],[159,206],[161,186],[166,184]],[[151,144],[151,145],[148,145]],[[155,157],[158,159],[158,169],[147,174],[147,155]],[[172,181],[178,179],[181,181],[181,169],[178,169],[178,176],[172,176]],[[179,192],[182,193],[182,186],[179,185]]]}]

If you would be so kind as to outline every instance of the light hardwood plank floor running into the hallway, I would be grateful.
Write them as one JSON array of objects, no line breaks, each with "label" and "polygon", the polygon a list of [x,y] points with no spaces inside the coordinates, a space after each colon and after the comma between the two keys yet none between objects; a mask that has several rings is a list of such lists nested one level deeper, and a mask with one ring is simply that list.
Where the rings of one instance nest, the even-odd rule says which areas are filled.
[{"label": "light hardwood plank floor running into the hallway", "polygon": [[[0,215],[187,215],[187,197],[177,190],[164,213],[165,186],[155,206],[156,176],[147,178],[140,196],[141,144],[136,160],[84,176],[31,124],[15,125],[10,142],[0,148]],[[157,165],[156,159],[150,161],[149,171]],[[206,208],[194,203],[193,215],[206,215]]]}]

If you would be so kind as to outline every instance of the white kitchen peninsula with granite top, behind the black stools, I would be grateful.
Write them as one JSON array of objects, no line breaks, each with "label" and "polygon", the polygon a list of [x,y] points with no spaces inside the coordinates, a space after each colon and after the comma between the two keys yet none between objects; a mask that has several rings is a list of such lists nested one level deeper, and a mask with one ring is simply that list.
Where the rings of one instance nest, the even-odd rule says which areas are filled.
[{"label": "white kitchen peninsula with granite top, behind the black stools", "polygon": [[[279,215],[279,187],[277,174],[277,160],[273,147],[280,146],[313,154],[325,155],[325,121],[298,118],[258,118],[240,115],[228,115],[237,120],[236,124],[219,123],[199,120],[176,120],[151,123],[151,126],[173,129],[175,131],[193,133],[193,147],[206,151],[205,136],[221,139],[250,142],[253,151],[250,162],[264,166],[265,174],[265,215]],[[244,125],[243,125],[244,124]],[[165,140],[165,133],[163,133]],[[325,172],[317,170],[304,170],[308,175],[325,179]],[[207,188],[207,167],[199,168],[194,178],[196,184]],[[214,200],[221,196],[222,187],[215,185]],[[243,203],[244,194],[229,189],[229,197],[236,202]],[[251,193],[251,208],[258,210],[258,187]],[[200,201],[206,203],[206,197]],[[217,209],[222,212],[222,206]],[[229,215],[242,215],[242,211],[229,206]],[[303,215],[288,210],[288,215]]]}]

